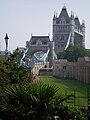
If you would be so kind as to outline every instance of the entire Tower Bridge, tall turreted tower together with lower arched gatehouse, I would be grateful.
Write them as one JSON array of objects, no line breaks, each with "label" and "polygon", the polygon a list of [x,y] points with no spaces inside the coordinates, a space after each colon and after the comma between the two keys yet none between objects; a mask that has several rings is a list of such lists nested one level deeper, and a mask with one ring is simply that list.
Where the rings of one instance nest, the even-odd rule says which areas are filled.
[{"label": "entire Tower Bridge, tall turreted tower together with lower arched gatehouse", "polygon": [[31,36],[26,42],[21,64],[33,68],[36,64],[49,62],[51,68],[53,60],[57,59],[56,54],[66,50],[70,44],[85,47],[85,23],[80,23],[72,12],[69,16],[64,6],[58,16],[55,13],[53,16],[53,41],[49,36]]}]

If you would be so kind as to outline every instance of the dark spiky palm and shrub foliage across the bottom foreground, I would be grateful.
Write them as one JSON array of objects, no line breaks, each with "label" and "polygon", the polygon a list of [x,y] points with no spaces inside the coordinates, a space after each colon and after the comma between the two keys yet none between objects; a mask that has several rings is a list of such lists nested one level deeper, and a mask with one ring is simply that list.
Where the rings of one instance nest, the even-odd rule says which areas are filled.
[{"label": "dark spiky palm and shrub foliage across the bottom foreground", "polygon": [[0,106],[3,120],[82,120],[81,112],[65,104],[70,96],[57,96],[58,88],[41,82],[12,85]]}]

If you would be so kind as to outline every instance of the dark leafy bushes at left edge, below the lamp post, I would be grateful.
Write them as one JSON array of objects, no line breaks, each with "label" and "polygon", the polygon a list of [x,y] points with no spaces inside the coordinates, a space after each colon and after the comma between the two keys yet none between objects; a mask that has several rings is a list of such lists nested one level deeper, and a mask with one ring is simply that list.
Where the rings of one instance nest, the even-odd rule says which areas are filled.
[{"label": "dark leafy bushes at left edge, below the lamp post", "polygon": [[14,52],[7,60],[0,57],[0,102],[3,91],[8,85],[29,82],[28,71],[17,63],[16,56]]}]

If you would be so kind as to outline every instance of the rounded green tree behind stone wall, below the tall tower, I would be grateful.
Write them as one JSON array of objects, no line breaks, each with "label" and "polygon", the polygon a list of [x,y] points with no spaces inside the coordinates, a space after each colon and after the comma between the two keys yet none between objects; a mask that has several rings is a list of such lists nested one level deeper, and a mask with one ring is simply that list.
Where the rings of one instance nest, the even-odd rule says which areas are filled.
[{"label": "rounded green tree behind stone wall, below the tall tower", "polygon": [[70,45],[63,53],[58,54],[58,59],[67,59],[76,62],[79,57],[90,56],[90,52],[82,46]]}]

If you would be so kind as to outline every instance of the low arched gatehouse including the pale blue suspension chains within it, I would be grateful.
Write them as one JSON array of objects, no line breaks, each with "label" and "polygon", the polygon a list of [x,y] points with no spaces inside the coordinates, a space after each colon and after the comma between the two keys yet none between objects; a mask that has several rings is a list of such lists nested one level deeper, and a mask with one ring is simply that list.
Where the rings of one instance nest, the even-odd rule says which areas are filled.
[{"label": "low arched gatehouse including the pale blue suspension chains within it", "polygon": [[30,41],[26,42],[26,50],[21,59],[21,64],[24,63],[29,68],[33,68],[36,63],[49,62],[49,67],[52,67],[53,60],[57,56],[54,52],[54,42],[50,41],[49,36],[31,36]]}]

